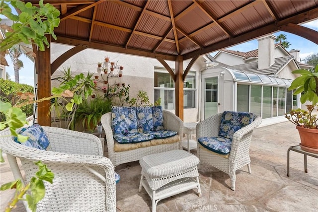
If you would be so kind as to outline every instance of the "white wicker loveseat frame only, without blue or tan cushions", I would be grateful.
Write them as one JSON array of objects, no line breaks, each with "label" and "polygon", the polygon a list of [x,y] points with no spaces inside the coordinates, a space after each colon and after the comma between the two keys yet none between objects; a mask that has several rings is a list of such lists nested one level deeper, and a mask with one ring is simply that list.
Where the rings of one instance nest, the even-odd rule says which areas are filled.
[{"label": "white wicker loveseat frame only, without blue or tan cushions", "polygon": [[[111,129],[111,124],[112,124],[111,112],[108,112],[102,115],[100,121],[106,134],[108,157],[115,167],[122,163],[128,163],[128,162],[140,160],[143,156],[146,156],[149,154],[154,154],[154,153],[159,153],[159,152],[164,152],[164,151],[169,151],[174,149],[182,149],[182,143],[180,139],[179,142],[175,142],[175,143],[153,145],[153,146],[137,148],[137,149],[133,149],[129,151],[116,152],[114,151],[114,138],[113,138],[113,132]],[[179,137],[182,138],[183,122],[175,114],[169,111],[163,110],[163,127],[165,130],[172,130],[172,131],[178,132]]]}]

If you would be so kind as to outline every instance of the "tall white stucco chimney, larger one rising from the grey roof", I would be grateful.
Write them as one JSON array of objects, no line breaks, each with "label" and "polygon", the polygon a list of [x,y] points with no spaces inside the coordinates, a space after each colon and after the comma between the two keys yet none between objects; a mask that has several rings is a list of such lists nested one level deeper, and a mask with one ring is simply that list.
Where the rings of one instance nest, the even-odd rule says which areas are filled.
[{"label": "tall white stucco chimney, larger one rising from the grey roof", "polygon": [[266,35],[258,41],[258,69],[267,69],[275,62],[275,39],[276,36]]}]

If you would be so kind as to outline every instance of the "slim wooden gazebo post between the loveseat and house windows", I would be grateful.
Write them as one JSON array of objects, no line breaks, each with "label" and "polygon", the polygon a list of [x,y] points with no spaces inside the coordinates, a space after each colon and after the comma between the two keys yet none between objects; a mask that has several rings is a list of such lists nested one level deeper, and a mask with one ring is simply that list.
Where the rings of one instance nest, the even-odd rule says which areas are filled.
[{"label": "slim wooden gazebo post between the loveseat and house windows", "polygon": [[183,121],[183,57],[175,60],[175,115]]}]

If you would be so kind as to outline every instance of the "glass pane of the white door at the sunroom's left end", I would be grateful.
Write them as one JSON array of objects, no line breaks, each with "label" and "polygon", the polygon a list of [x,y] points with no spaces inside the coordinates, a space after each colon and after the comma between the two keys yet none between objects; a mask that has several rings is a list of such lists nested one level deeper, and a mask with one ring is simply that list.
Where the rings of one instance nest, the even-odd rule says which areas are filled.
[{"label": "glass pane of the white door at the sunroom's left end", "polygon": [[204,78],[204,119],[218,113],[218,77]]}]

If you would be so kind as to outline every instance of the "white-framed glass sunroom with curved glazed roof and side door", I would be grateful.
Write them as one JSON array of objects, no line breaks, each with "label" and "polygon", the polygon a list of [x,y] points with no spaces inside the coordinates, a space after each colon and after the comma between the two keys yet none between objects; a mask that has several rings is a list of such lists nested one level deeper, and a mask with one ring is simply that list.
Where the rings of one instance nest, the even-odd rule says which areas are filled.
[{"label": "white-framed glass sunroom with curved glazed roof and side door", "polygon": [[299,107],[288,87],[292,79],[212,68],[201,72],[201,120],[224,110],[245,111],[263,119],[284,117]]}]

